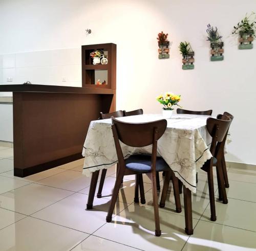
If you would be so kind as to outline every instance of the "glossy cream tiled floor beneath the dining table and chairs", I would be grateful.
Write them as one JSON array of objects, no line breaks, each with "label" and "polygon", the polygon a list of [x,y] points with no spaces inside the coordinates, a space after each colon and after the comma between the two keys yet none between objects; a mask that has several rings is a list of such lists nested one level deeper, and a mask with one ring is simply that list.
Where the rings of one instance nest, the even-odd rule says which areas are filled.
[{"label": "glossy cream tiled floor beneath the dining table and chairs", "polygon": [[[256,250],[256,170],[229,168],[228,204],[216,200],[216,222],[209,220],[207,177],[199,172],[198,193],[192,199],[192,236],[184,233],[184,210],[175,212],[171,191],[166,207],[160,209],[161,237],[154,236],[148,178],[144,177],[142,205],[133,202],[134,176],[125,177],[113,221],[106,223],[115,168],[108,170],[103,197],[95,197],[90,211],[90,178],[81,171],[82,165],[73,162],[14,177],[12,149],[0,148],[0,250]],[[215,186],[217,197],[216,179]]]}]

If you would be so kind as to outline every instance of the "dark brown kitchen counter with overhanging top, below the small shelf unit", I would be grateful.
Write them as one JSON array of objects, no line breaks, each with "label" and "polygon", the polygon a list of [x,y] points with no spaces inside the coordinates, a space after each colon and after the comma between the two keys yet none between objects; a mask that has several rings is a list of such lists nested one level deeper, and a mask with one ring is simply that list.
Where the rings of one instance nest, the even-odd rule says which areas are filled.
[{"label": "dark brown kitchen counter with overhanging top, below the small shelf unit", "polygon": [[82,158],[89,124],[115,110],[115,89],[0,85],[13,93],[14,175],[25,177]]}]

